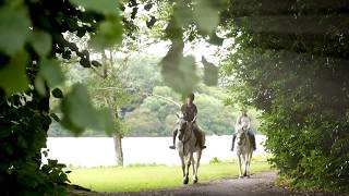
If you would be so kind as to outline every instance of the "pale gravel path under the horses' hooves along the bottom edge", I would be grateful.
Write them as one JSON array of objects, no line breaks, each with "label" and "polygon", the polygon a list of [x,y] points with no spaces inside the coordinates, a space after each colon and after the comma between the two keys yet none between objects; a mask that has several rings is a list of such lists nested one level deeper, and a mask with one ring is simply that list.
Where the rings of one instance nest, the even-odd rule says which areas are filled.
[{"label": "pale gravel path under the horses' hooves along the bottom edge", "polygon": [[[272,195],[310,195],[310,196],[349,196],[349,194],[333,194],[320,192],[294,192],[284,187],[275,186],[276,172],[262,172],[252,174],[250,179],[221,179],[208,183],[198,183],[178,188],[149,191],[142,193],[98,193],[91,195],[108,196],[182,196],[182,195],[205,195],[205,196],[272,196]],[[88,194],[89,195],[89,194]]]}]

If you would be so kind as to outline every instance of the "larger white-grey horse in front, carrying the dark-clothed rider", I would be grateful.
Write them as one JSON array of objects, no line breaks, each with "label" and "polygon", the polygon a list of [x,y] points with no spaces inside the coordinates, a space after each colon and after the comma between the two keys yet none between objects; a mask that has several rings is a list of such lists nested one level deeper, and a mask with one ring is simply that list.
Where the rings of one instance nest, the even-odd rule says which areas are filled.
[{"label": "larger white-grey horse in front, carrying the dark-clothed rider", "polygon": [[[188,122],[183,117],[177,115],[177,142],[176,148],[178,150],[179,157],[182,163],[183,171],[183,184],[189,182],[189,168],[190,164],[193,166],[193,183],[197,183],[197,171],[200,166],[200,159],[202,155],[202,149],[197,146],[195,134],[193,133],[193,124],[195,119],[192,122]],[[203,144],[205,144],[205,134],[201,132]]]}]

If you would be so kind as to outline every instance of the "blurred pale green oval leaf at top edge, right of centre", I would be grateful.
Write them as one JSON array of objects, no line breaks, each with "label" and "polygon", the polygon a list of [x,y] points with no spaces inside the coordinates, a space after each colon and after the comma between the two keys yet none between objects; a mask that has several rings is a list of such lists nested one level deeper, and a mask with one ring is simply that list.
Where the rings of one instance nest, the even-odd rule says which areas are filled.
[{"label": "blurred pale green oval leaf at top edge, right of centre", "polygon": [[214,9],[210,0],[196,0],[194,7],[194,19],[198,24],[198,27],[206,33],[212,33],[218,25],[219,14],[216,9]]}]

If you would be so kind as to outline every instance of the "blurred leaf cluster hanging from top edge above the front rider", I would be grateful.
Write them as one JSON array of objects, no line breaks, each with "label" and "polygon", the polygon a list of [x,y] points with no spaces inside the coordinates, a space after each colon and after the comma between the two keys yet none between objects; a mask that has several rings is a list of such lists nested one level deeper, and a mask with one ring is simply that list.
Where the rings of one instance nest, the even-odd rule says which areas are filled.
[{"label": "blurred leaf cluster hanging from top edge above the front rider", "polygon": [[[160,61],[161,74],[166,85],[182,96],[193,91],[198,83],[194,57],[183,57],[185,41],[204,38],[217,44],[216,27],[219,22],[219,12],[226,7],[226,0],[193,0],[193,1],[169,1],[170,14],[168,25],[165,28],[164,38],[171,41],[166,57]],[[218,41],[220,44],[220,41]],[[207,85],[216,84],[217,69],[205,64],[204,82]],[[212,75],[210,75],[212,74]]]}]

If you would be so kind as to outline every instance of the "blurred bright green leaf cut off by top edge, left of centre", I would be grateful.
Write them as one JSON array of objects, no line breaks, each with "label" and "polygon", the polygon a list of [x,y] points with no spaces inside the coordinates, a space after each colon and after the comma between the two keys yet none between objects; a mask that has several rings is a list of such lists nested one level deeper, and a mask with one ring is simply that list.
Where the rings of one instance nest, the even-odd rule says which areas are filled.
[{"label": "blurred bright green leaf cut off by top edge, left of centre", "polygon": [[75,5],[81,5],[86,10],[96,11],[103,14],[116,14],[119,11],[117,0],[70,0]]}]

